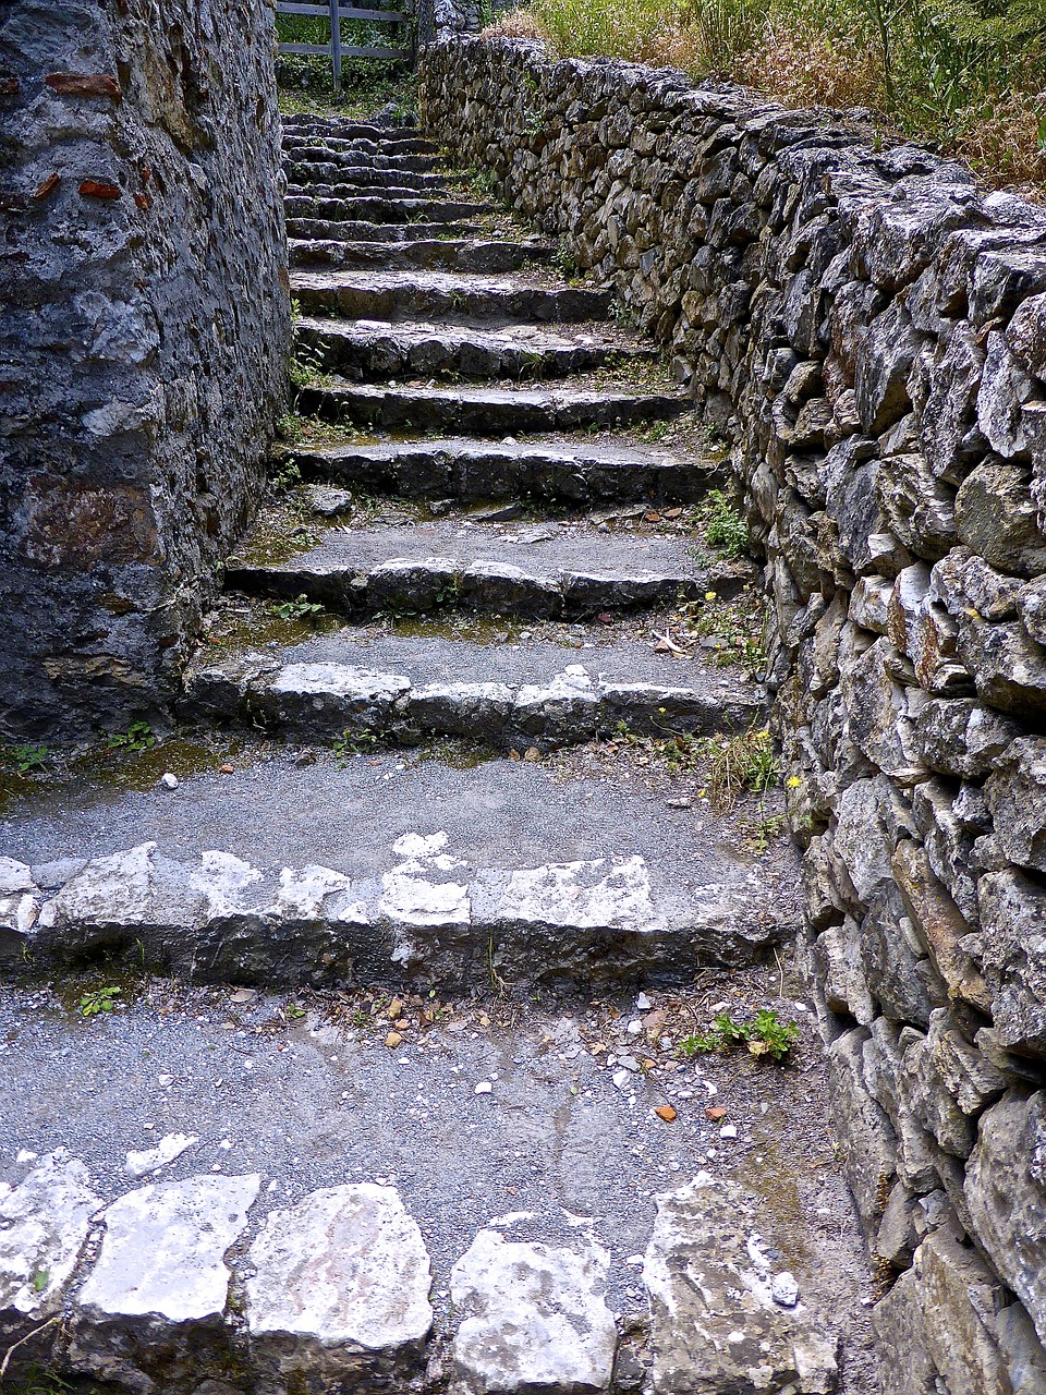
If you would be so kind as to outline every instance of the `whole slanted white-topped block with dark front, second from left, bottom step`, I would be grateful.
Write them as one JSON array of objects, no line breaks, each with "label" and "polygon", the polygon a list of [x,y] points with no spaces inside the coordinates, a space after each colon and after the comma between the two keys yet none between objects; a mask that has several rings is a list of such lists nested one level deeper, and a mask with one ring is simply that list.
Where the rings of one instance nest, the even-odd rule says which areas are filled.
[{"label": "whole slanted white-topped block with dark front, second from left, bottom step", "polygon": [[74,1304],[73,1370],[144,1395],[195,1391],[227,1363],[226,1251],[261,1177],[141,1187],[106,1208],[102,1249]]}]

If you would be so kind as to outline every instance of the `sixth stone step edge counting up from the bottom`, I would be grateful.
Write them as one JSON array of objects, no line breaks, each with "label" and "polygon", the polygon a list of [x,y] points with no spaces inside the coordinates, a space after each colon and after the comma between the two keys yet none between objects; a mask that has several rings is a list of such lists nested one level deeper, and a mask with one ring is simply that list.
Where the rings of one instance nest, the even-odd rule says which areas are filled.
[{"label": "sixth stone step edge counting up from the bottom", "polygon": [[324,421],[351,421],[388,431],[505,437],[664,421],[686,412],[692,403],[682,392],[335,384],[301,388],[297,405],[304,416]]}]

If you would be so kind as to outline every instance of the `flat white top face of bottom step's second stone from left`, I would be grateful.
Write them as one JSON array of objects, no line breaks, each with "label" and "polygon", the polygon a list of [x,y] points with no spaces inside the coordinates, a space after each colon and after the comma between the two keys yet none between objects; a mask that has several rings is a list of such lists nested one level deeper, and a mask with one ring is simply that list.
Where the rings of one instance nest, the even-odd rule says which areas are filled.
[{"label": "flat white top face of bottom step's second stone from left", "polygon": [[226,1250],[247,1225],[261,1177],[201,1176],[120,1197],[105,1212],[98,1261],[78,1295],[88,1317],[192,1322],[220,1317]]}]

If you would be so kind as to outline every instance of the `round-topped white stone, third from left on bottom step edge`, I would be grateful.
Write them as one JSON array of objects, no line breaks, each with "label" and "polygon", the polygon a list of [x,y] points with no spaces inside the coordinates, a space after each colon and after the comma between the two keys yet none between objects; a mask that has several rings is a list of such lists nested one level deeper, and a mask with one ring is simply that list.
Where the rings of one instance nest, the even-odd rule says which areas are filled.
[{"label": "round-topped white stone, third from left on bottom step edge", "polygon": [[428,1251],[393,1187],[326,1187],[272,1211],[247,1265],[252,1359],[280,1391],[402,1373],[432,1325]]}]

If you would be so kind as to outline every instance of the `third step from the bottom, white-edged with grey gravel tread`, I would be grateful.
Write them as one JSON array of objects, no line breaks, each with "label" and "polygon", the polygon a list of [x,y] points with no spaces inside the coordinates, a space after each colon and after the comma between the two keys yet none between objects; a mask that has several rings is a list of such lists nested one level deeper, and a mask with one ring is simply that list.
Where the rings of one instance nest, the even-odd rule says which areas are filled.
[{"label": "third step from the bottom, white-edged with grey gravel tread", "polygon": [[766,721],[755,685],[700,657],[665,661],[653,639],[607,643],[598,628],[575,629],[573,664],[561,643],[533,636],[484,644],[346,629],[220,660],[204,644],[179,713],[312,741],[350,730],[407,746],[462,737],[499,751],[547,751],[619,730],[704,737]]}]

